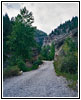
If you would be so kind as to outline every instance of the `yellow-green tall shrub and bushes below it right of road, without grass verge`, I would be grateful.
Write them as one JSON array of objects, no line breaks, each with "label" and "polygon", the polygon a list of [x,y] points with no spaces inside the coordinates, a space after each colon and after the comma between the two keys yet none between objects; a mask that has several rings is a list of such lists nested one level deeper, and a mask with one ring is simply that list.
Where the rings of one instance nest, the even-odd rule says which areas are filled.
[{"label": "yellow-green tall shrub and bushes below it right of road, without grass verge", "polygon": [[78,52],[76,43],[71,38],[67,38],[62,49],[64,55],[58,56],[57,60],[54,62],[56,70],[76,74],[78,71]]}]

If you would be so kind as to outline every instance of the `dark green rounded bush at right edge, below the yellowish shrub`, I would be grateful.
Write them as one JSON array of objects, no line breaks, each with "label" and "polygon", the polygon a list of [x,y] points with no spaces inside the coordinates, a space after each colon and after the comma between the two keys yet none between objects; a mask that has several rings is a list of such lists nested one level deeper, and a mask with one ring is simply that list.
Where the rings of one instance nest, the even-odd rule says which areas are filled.
[{"label": "dark green rounded bush at right edge, below the yellowish shrub", "polygon": [[61,72],[75,74],[77,73],[77,59],[75,56],[70,55],[64,57],[62,64],[61,64]]}]

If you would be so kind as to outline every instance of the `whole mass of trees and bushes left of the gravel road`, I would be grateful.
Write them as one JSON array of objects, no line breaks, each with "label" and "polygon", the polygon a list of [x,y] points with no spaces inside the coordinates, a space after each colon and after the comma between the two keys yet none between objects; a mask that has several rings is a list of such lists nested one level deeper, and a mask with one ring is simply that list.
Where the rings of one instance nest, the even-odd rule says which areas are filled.
[{"label": "whole mass of trees and bushes left of the gravel road", "polygon": [[37,69],[42,63],[38,57],[39,46],[35,40],[37,29],[32,26],[33,22],[32,12],[25,7],[11,20],[7,14],[3,16],[3,59],[4,64],[7,63],[4,77],[19,75],[21,70]]}]

